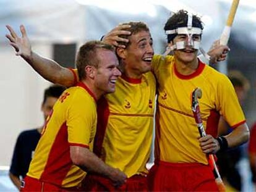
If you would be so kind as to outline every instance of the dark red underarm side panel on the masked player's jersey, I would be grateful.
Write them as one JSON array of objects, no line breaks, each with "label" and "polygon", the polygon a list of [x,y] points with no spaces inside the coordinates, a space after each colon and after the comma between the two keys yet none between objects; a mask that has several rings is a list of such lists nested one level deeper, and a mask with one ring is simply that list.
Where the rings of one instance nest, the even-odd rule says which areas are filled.
[{"label": "dark red underarm side panel on the masked player's jersey", "polygon": [[218,135],[219,120],[220,114],[215,110],[211,110],[210,115],[207,119],[206,133],[210,134],[214,138],[216,138],[216,136]]}]

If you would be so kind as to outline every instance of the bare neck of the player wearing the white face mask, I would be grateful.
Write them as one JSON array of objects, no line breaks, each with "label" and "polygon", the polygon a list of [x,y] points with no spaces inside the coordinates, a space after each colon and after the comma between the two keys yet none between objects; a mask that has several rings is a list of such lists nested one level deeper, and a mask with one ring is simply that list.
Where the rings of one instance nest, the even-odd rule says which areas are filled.
[{"label": "bare neck of the player wearing the white face mask", "polygon": [[195,57],[195,59],[191,62],[184,62],[177,57],[174,57],[174,61],[177,72],[181,73],[182,75],[190,75],[194,73],[199,65],[197,57]]}]

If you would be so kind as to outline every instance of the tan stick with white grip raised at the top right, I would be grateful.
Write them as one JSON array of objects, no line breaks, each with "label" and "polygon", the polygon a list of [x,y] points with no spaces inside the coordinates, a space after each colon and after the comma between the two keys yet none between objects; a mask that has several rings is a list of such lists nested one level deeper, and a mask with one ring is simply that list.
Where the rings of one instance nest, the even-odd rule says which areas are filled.
[{"label": "tan stick with white grip raised at the top right", "polygon": [[233,0],[231,8],[229,10],[229,15],[228,15],[228,19],[226,21],[226,26],[224,27],[224,30],[221,34],[220,37],[220,44],[221,45],[226,45],[228,44],[228,40],[229,40],[229,36],[230,36],[230,32],[231,32],[231,27],[233,25],[233,21],[234,21],[234,17],[236,15],[236,10],[239,4],[239,0]]}]

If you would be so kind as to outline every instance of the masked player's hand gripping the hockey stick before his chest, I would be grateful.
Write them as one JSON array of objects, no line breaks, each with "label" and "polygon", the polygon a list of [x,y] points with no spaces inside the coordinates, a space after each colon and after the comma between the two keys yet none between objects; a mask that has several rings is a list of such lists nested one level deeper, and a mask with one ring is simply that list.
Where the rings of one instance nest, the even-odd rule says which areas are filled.
[{"label": "masked player's hand gripping the hockey stick before his chest", "polygon": [[211,135],[206,135],[198,139],[200,147],[205,154],[215,154],[220,150],[218,141]]}]

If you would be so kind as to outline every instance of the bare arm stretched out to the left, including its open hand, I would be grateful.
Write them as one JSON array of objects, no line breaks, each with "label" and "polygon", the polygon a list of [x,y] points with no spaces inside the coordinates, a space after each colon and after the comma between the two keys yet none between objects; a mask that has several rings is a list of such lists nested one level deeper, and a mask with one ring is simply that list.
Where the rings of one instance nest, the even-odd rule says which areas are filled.
[{"label": "bare arm stretched out to the left, including its open hand", "polygon": [[23,25],[20,25],[22,36],[18,36],[11,26],[6,25],[6,27],[10,32],[10,34],[6,35],[6,38],[8,38],[11,46],[15,49],[16,56],[22,57],[46,80],[64,86],[74,85],[74,75],[69,69],[32,51],[27,32]]}]

